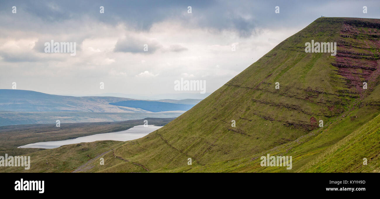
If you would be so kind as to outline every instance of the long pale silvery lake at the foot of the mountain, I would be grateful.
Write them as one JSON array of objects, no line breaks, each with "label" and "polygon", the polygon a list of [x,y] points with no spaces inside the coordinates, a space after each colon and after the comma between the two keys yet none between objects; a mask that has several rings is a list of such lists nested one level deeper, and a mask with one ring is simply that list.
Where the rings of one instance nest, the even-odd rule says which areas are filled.
[{"label": "long pale silvery lake at the foot of the mountain", "polygon": [[144,125],[138,125],[128,130],[123,130],[119,132],[100,133],[100,134],[82,136],[79,138],[66,139],[66,140],[60,140],[60,141],[39,142],[39,143],[19,146],[17,148],[54,149],[54,148],[67,145],[67,144],[88,143],[88,142],[94,142],[98,140],[128,141],[132,139],[142,138],[161,127],[162,126],[155,126],[155,125],[147,125],[146,127],[144,127]]}]

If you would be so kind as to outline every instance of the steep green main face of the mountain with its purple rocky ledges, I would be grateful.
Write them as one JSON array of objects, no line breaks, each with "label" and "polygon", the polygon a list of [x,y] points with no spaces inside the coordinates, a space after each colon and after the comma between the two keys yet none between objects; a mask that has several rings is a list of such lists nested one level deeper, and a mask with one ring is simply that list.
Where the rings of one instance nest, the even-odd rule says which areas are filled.
[{"label": "steep green main face of the mountain with its purple rocky ledges", "polygon": [[[115,154],[150,171],[175,171],[189,167],[187,158],[192,158],[192,168],[309,137],[310,143],[300,147],[312,160],[378,114],[377,99],[365,97],[378,84],[379,27],[377,19],[319,18],[191,110],[148,136],[120,146]],[[305,43],[311,40],[337,42],[337,56],[305,53]],[[368,89],[362,88],[364,81]],[[275,89],[275,82],[280,89]],[[369,101],[359,104],[363,99]],[[367,107],[356,109],[359,105]],[[356,112],[350,113],[351,108]],[[344,113],[358,118],[345,124],[340,120]],[[236,127],[231,127],[232,120]],[[331,133],[321,134],[320,120]],[[108,161],[118,168],[127,164],[112,160],[112,155]],[[307,162],[297,157],[293,161],[292,171]],[[95,166],[93,171],[101,169]],[[128,167],[118,171],[128,171]]]}]

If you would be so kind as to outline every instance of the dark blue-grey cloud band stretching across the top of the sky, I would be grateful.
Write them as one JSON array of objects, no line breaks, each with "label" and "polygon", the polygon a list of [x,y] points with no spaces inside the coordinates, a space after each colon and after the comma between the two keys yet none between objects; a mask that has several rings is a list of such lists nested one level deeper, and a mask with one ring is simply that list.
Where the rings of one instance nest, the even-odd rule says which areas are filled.
[{"label": "dark blue-grey cloud band stretching across the top of the sky", "polygon": [[[361,8],[366,4],[369,13],[363,15]],[[377,18],[380,14],[378,2],[343,1],[228,1],[228,0],[139,0],[139,1],[9,1],[0,6],[0,27],[14,30],[55,31],[57,25],[74,20],[85,25],[91,19],[97,23],[117,25],[122,22],[137,31],[149,31],[153,24],[165,20],[178,20],[182,24],[207,28],[211,31],[234,30],[241,37],[255,34],[255,28],[305,26],[323,16],[349,16]],[[17,14],[11,13],[11,7],[17,6]],[[99,13],[99,7],[105,7],[105,13]],[[192,6],[192,13],[187,13],[187,6]],[[280,13],[275,14],[275,6],[280,6]],[[347,14],[350,13],[350,14]],[[49,30],[49,27],[51,30]],[[58,27],[58,30],[62,28]],[[71,29],[70,31],[75,31]]]}]

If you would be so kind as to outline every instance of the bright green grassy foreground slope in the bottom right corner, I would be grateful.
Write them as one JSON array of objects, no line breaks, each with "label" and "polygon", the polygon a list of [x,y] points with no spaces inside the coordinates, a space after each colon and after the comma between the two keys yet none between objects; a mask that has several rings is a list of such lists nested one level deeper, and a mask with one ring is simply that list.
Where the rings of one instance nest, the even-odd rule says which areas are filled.
[{"label": "bright green grassy foreground slope in the bottom right corner", "polygon": [[[363,158],[367,165],[363,165]],[[299,172],[380,172],[380,115],[329,147]]]}]

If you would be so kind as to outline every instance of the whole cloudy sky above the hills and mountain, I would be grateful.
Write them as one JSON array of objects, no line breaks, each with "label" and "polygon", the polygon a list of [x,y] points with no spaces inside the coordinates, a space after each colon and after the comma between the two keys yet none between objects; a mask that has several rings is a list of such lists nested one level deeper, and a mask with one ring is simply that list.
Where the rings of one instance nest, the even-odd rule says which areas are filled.
[{"label": "whole cloudy sky above the hills and mountain", "polygon": [[[0,89],[199,93],[175,90],[183,78],[211,93],[321,16],[380,18],[380,1],[0,0]],[[46,53],[51,40],[76,54]]]}]

